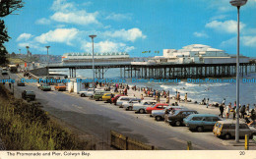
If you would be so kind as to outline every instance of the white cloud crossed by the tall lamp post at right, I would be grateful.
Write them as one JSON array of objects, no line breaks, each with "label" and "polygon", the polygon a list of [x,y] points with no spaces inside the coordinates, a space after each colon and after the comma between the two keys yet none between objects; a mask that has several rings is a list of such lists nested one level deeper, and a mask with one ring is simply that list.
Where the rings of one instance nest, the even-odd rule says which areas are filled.
[{"label": "white cloud crossed by the tall lamp post at right", "polygon": [[[206,24],[206,27],[214,28],[218,31],[228,32],[228,33],[236,33],[237,32],[237,22],[233,20],[228,20],[224,22],[212,21]],[[245,27],[244,24],[240,23],[240,30]]]}]

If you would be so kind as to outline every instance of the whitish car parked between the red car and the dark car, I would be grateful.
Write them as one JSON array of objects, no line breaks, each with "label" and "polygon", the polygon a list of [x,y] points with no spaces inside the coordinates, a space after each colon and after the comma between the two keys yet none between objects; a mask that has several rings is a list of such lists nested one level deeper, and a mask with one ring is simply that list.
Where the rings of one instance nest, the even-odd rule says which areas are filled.
[{"label": "whitish car parked between the red car and the dark car", "polygon": [[151,117],[154,117],[156,121],[163,121],[165,114],[174,114],[175,111],[186,109],[182,106],[167,106],[165,109],[162,110],[153,110]]}]

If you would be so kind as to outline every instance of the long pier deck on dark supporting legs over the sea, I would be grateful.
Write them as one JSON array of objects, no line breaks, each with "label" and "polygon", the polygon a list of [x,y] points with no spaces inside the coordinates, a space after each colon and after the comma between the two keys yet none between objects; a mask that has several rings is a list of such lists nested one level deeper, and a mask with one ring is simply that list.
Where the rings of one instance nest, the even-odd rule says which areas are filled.
[{"label": "long pier deck on dark supporting legs over the sea", "polygon": [[[137,79],[200,79],[227,78],[236,75],[236,64],[144,64],[143,62],[111,62],[96,63],[96,78],[103,79],[108,69],[120,69],[120,78]],[[69,69],[69,77],[76,78],[78,69],[93,69],[91,63],[86,64],[51,64],[48,69]],[[256,72],[256,63],[240,63],[239,72],[242,77]]]}]

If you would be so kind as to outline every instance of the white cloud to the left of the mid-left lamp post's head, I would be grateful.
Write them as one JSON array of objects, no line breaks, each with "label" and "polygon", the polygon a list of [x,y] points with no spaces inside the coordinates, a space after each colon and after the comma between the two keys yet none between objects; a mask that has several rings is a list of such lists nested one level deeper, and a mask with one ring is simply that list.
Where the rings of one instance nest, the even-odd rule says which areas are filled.
[{"label": "white cloud to the left of the mid-left lamp post's head", "polygon": [[76,38],[79,30],[77,28],[56,28],[34,38],[39,43],[60,42],[72,45],[72,40]]}]

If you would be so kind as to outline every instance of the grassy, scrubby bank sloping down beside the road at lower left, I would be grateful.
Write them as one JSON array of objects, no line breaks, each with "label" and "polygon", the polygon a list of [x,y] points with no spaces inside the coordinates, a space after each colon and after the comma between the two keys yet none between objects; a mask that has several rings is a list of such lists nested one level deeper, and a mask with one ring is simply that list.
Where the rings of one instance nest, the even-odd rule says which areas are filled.
[{"label": "grassy, scrubby bank sloping down beside the road at lower left", "polygon": [[15,99],[2,84],[0,138],[7,150],[82,150],[91,146],[56,124],[38,104]]}]

